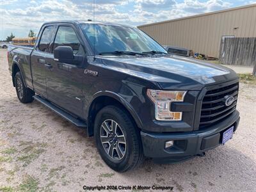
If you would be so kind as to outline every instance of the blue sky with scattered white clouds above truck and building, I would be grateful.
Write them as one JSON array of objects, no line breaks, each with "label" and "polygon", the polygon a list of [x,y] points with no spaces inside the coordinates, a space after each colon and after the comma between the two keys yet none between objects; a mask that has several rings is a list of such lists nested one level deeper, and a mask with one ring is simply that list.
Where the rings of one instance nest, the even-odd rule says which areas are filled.
[{"label": "blue sky with scattered white clouds above truck and building", "polygon": [[[0,40],[36,33],[42,23],[63,19],[92,19],[93,0],[0,0]],[[189,15],[256,3],[244,0],[95,0],[95,20],[138,26]]]}]

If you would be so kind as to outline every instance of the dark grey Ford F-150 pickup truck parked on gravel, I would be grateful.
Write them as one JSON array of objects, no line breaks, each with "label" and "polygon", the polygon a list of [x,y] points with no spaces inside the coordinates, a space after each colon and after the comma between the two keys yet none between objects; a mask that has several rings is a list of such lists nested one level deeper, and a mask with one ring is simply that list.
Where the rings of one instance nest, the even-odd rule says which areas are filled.
[{"label": "dark grey Ford F-150 pickup truck parked on gravel", "polygon": [[7,54],[20,102],[38,100],[86,128],[118,172],[144,157],[174,163],[204,156],[239,124],[233,70],[167,54],[137,28],[47,22],[35,47],[11,45]]}]

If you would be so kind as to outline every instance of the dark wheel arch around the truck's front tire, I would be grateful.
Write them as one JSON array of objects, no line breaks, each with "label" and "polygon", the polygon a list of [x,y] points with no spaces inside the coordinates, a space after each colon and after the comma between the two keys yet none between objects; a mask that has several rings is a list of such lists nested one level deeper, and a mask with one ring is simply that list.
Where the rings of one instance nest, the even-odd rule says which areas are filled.
[{"label": "dark wheel arch around the truck's front tire", "polygon": [[140,117],[137,115],[134,108],[132,108],[131,104],[129,104],[129,102],[127,102],[121,95],[109,91],[97,92],[95,95],[93,95],[93,100],[90,103],[88,110],[88,136],[93,136],[93,125],[97,113],[100,111],[100,109],[108,105],[114,105],[125,109],[125,111],[127,111],[127,113],[129,113],[131,116],[134,124],[136,124],[139,129],[142,128]]}]

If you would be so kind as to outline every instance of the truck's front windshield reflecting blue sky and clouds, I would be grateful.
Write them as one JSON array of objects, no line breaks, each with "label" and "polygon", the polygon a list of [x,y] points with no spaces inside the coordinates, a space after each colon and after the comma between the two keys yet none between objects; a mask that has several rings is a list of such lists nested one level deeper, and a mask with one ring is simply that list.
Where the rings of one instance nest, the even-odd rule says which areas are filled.
[{"label": "truck's front windshield reflecting blue sky and clouds", "polygon": [[81,24],[81,29],[92,47],[95,44],[95,54],[167,54],[163,47],[137,28]]}]

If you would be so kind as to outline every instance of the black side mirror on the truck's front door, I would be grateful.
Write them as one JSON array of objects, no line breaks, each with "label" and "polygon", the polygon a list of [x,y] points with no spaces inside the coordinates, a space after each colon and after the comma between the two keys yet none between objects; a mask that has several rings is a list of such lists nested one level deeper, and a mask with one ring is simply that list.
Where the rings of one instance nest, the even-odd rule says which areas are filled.
[{"label": "black side mirror on the truck's front door", "polygon": [[83,56],[74,56],[70,46],[58,46],[53,51],[54,60],[60,63],[79,65],[83,61]]}]

